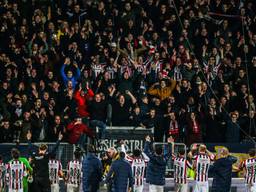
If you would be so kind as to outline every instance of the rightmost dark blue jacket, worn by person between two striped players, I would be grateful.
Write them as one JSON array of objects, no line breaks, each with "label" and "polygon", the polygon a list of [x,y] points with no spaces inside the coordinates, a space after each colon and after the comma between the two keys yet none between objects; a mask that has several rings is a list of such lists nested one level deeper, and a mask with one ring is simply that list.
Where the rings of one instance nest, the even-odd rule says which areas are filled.
[{"label": "rightmost dark blue jacket, worn by person between two striped players", "polygon": [[236,157],[228,156],[215,161],[210,171],[213,173],[212,192],[229,192],[232,179],[232,164]]}]

